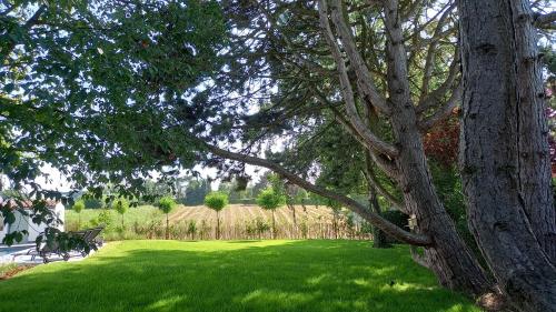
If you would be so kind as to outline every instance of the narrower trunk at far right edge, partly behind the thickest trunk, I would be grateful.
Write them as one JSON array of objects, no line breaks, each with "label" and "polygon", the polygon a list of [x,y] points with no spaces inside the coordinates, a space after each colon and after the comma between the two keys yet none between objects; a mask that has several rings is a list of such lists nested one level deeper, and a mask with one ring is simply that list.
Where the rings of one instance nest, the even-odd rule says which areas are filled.
[{"label": "narrower trunk at far right edge, partly behind the thickest trunk", "polygon": [[518,100],[519,192],[533,232],[548,260],[556,265],[556,209],[537,30],[533,26],[528,1],[514,0],[510,4],[518,82],[515,91]]}]

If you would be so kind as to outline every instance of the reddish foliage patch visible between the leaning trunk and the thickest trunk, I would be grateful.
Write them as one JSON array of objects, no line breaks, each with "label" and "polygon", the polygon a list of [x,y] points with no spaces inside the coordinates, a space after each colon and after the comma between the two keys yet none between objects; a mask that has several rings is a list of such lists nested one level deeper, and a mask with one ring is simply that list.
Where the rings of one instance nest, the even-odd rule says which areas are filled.
[{"label": "reddish foliage patch visible between the leaning trunk and the thickest trunk", "polygon": [[449,167],[457,163],[459,150],[459,121],[457,112],[441,123],[435,125],[423,137],[425,153],[438,163]]}]

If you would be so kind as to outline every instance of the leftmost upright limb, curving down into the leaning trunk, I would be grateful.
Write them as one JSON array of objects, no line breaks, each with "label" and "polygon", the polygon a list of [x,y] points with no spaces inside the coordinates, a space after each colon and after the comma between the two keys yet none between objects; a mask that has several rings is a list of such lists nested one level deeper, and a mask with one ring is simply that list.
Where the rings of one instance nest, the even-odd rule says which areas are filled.
[{"label": "leftmost upright limb, curving down into the leaning trunk", "polygon": [[346,64],[341,57],[338,44],[336,43],[336,39],[334,38],[332,31],[330,29],[330,23],[328,22],[328,13],[325,0],[319,1],[318,9],[320,27],[322,28],[324,36],[326,37],[326,41],[328,42],[338,69],[340,89],[344,95],[344,101],[346,103],[346,113],[349,118],[350,123],[354,125],[357,133],[359,133],[359,135],[365,140],[366,145],[389,157],[396,157],[398,154],[398,150],[394,145],[379,139],[365,125],[365,123],[360,119],[357,112],[357,107],[355,104],[354,90],[351,90],[351,85],[349,83]]}]

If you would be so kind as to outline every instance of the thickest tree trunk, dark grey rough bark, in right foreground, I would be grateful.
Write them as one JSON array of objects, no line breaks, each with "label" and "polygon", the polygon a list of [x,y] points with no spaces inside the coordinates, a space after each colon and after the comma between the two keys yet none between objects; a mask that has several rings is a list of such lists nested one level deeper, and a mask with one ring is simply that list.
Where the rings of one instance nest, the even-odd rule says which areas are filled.
[{"label": "thickest tree trunk, dark grey rough bark, in right foreground", "polygon": [[525,26],[532,21],[528,3],[459,0],[458,6],[465,87],[460,153],[469,225],[518,310],[556,311],[556,270],[547,256],[555,248],[554,208],[546,191],[538,60],[530,54],[533,30]]}]

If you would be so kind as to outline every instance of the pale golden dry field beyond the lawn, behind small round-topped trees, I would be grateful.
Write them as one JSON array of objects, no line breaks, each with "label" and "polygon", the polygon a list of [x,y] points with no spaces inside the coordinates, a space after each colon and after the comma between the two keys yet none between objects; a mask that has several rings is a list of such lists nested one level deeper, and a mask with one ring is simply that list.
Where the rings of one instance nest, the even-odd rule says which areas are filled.
[{"label": "pale golden dry field beyond the lawn, behind small round-topped trees", "polygon": [[[166,215],[156,207],[143,205],[130,209],[125,215],[125,227],[113,210],[86,209],[78,214],[68,211],[67,229],[91,227],[99,214],[108,214],[111,224],[105,230],[108,240],[160,239],[166,233]],[[295,217],[294,217],[295,215]],[[257,205],[230,204],[220,212],[220,239],[368,239],[358,224],[347,222],[344,213],[334,215],[324,205],[296,205],[295,211],[282,207],[275,211],[276,232],[272,235],[272,212]],[[105,218],[106,219],[106,218]],[[169,215],[170,236],[179,240],[216,239],[217,214],[203,207],[179,205]],[[103,220],[106,221],[106,220]],[[106,223],[106,222],[105,222]],[[80,224],[80,225],[79,225]]]}]

